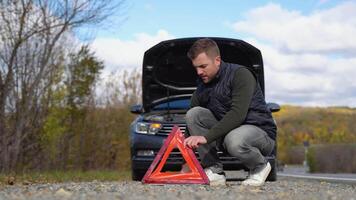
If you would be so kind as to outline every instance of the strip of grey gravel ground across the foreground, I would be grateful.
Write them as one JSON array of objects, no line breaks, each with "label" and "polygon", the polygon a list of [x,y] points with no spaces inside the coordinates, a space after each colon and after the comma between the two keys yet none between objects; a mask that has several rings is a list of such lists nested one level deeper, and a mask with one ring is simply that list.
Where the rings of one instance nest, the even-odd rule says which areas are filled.
[{"label": "strip of grey gravel ground across the foreground", "polygon": [[152,185],[134,181],[0,185],[2,199],[353,199],[356,185],[279,178],[262,187],[241,185],[229,177],[226,186]]}]

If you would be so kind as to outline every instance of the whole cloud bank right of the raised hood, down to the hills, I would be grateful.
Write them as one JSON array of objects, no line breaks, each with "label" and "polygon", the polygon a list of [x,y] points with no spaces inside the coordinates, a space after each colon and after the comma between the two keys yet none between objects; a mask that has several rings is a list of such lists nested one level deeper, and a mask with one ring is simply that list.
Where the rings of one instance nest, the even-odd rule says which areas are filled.
[{"label": "whole cloud bank right of the raised hood, down to the hills", "polygon": [[303,15],[277,4],[232,28],[262,51],[266,97],[278,103],[356,106],[356,2]]}]

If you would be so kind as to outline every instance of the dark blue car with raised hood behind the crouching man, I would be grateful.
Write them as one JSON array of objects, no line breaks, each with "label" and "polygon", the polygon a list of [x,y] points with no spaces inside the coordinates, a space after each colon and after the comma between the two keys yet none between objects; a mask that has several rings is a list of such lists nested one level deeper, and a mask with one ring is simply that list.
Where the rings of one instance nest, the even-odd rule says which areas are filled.
[{"label": "dark blue car with raised hood behind the crouching man", "polygon": [[[132,179],[141,180],[153,162],[164,140],[177,125],[186,130],[185,114],[196,89],[197,74],[187,57],[191,45],[201,38],[166,40],[148,49],[142,65],[142,104],[133,105],[131,112],[138,114],[130,125]],[[213,39],[219,46],[222,60],[244,65],[257,77],[265,92],[262,55],[259,49],[238,39]],[[276,103],[268,103],[271,112],[279,111]],[[276,145],[277,146],[277,145]],[[199,156],[196,156],[199,159]],[[247,170],[238,158],[224,149],[218,151],[224,170]],[[277,179],[277,147],[266,156],[272,166],[267,181]],[[183,163],[179,150],[173,150],[163,170],[178,171]]]}]

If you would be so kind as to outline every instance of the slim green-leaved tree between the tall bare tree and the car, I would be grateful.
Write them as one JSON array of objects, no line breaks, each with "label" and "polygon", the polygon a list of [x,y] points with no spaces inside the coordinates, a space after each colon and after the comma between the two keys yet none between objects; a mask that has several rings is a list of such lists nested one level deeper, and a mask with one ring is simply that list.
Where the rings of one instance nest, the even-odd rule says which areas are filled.
[{"label": "slim green-leaved tree between the tall bare tree and the car", "polygon": [[93,101],[95,81],[98,79],[100,70],[104,68],[101,61],[94,57],[94,54],[89,51],[88,46],[84,46],[77,54],[71,55],[71,63],[69,64],[69,73],[66,81],[68,90],[67,108],[69,109],[68,116],[68,132],[64,136],[62,142],[62,168],[66,168],[69,156],[70,139],[76,137],[79,143],[77,165],[84,166],[85,155],[85,116],[90,101]]}]

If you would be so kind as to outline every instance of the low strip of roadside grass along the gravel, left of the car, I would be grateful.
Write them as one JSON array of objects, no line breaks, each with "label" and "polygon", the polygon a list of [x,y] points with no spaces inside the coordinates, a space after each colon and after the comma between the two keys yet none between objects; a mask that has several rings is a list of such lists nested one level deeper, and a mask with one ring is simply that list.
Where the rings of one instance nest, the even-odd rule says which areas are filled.
[{"label": "low strip of roadside grass along the gravel, left of the car", "polygon": [[125,181],[131,179],[130,170],[92,170],[92,171],[44,171],[0,174],[0,185],[88,182],[88,181]]}]

